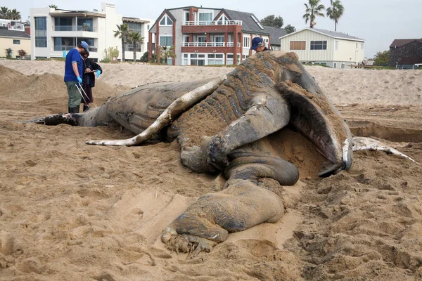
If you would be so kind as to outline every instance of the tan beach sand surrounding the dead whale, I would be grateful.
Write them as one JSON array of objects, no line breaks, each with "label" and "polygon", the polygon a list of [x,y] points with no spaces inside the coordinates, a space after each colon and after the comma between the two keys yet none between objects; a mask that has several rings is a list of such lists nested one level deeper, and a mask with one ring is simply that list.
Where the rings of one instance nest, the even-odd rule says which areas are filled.
[{"label": "tan beach sand surrounding the dead whale", "polygon": [[[96,105],[146,83],[228,67],[104,64]],[[356,152],[329,178],[285,187],[288,210],[187,259],[162,230],[221,176],[181,165],[177,143],[85,145],[119,128],[18,124],[67,110],[63,62],[0,60],[0,280],[421,280],[420,164]],[[422,71],[307,67],[352,132],[422,162]],[[303,159],[304,161],[306,159]]]}]

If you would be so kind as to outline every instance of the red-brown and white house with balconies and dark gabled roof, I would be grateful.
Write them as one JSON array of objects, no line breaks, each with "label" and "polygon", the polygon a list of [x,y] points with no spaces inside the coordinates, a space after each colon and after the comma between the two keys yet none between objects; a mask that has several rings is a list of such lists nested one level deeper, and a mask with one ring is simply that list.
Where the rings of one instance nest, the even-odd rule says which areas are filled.
[{"label": "red-brown and white house with balconies and dark gabled roof", "polygon": [[186,6],[162,11],[148,38],[148,55],[174,46],[169,65],[236,65],[249,55],[252,38],[270,47],[271,34],[252,13]]}]

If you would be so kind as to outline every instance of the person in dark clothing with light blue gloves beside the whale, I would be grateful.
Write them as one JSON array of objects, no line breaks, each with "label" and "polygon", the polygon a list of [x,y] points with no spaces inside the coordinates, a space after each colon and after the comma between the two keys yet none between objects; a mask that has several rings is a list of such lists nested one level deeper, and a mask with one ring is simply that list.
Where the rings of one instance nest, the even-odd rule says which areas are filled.
[{"label": "person in dark clothing with light blue gloves beside the whale", "polygon": [[84,104],[84,112],[89,110],[89,103],[94,103],[94,97],[92,96],[92,88],[95,86],[95,77],[100,77],[103,72],[101,66],[94,61],[89,60],[89,52],[83,51],[81,53],[84,60],[84,75],[82,76],[82,100]]}]

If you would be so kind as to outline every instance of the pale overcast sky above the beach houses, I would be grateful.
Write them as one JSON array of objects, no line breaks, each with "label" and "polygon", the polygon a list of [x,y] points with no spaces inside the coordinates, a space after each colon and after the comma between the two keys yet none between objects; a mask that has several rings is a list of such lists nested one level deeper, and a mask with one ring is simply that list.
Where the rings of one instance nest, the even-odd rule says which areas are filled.
[{"label": "pale overcast sky above the beach houses", "polygon": [[[377,51],[387,51],[394,39],[422,38],[422,0],[340,0],[345,7],[337,26],[338,32],[366,40],[365,56],[372,58]],[[30,15],[30,8],[48,7],[51,4],[67,10],[97,9],[101,11],[101,0],[32,0],[13,1],[0,4],[20,11],[23,20]],[[226,8],[253,13],[262,20],[267,15],[281,16],[284,25],[293,25],[296,30],[307,27],[302,15],[307,0],[160,0],[160,1],[108,1],[116,5],[116,13],[127,17],[155,20],[165,8],[203,6],[204,8]],[[326,8],[329,0],[321,0]],[[34,6],[36,5],[36,6]],[[316,18],[316,28],[334,30],[334,21]]]}]

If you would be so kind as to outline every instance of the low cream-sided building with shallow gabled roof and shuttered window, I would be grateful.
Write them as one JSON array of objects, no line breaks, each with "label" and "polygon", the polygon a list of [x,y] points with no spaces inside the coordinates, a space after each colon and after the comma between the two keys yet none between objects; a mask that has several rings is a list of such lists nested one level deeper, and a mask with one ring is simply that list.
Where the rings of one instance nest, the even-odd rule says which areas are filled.
[{"label": "low cream-sided building with shallow gabled roof and shuttered window", "polygon": [[362,64],[365,41],[349,34],[305,28],[280,37],[281,50],[295,52],[302,63],[345,68]]}]

